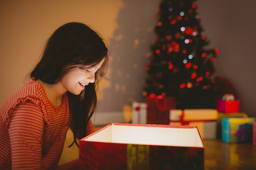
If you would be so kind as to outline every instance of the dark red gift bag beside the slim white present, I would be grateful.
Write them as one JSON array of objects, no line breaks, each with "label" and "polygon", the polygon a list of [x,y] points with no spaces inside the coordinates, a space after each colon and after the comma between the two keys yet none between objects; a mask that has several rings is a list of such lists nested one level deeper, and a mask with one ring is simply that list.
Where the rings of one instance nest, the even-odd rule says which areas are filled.
[{"label": "dark red gift bag beside the slim white present", "polygon": [[169,124],[171,109],[176,108],[175,97],[146,97],[147,124]]}]

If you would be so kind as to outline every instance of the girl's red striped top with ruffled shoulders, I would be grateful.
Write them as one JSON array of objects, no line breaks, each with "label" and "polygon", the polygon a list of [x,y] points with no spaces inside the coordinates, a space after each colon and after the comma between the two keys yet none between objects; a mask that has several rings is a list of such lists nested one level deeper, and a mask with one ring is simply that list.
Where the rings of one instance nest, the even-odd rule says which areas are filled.
[{"label": "girl's red striped top with ruffled shoulders", "polygon": [[0,170],[55,170],[71,118],[66,93],[56,107],[30,79],[0,107]]}]

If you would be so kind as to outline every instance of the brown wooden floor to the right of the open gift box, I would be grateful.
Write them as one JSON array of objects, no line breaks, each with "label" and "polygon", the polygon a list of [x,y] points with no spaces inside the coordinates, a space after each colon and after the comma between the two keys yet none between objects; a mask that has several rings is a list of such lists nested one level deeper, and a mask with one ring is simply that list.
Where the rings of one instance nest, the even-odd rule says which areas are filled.
[{"label": "brown wooden floor to the right of the open gift box", "polygon": [[256,146],[204,140],[204,170],[256,170]]}]

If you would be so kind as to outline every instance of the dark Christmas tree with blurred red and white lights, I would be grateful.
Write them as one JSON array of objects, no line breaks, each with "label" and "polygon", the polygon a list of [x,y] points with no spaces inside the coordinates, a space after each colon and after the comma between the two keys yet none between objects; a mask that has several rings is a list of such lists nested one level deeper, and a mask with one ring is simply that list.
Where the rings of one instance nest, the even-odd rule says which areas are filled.
[{"label": "dark Christmas tree with blurred red and white lights", "polygon": [[213,62],[219,51],[205,49],[209,40],[194,2],[160,2],[143,95],[175,97],[179,109],[216,108]]}]

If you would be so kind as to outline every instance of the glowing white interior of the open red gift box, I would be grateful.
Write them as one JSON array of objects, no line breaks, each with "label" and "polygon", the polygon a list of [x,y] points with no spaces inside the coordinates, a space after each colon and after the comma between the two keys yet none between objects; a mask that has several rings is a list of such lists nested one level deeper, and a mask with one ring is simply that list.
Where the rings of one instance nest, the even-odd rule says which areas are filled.
[{"label": "glowing white interior of the open red gift box", "polygon": [[112,124],[82,140],[121,144],[203,147],[197,128],[177,127],[181,126],[156,127]]}]

